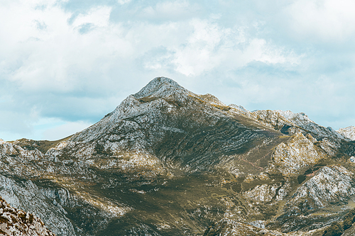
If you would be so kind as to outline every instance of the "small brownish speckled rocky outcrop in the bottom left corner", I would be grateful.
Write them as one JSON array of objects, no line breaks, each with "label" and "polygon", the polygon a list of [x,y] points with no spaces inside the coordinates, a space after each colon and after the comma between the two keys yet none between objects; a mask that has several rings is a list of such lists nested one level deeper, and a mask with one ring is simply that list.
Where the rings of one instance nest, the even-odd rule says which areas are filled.
[{"label": "small brownish speckled rocky outcrop in the bottom left corner", "polygon": [[37,216],[11,207],[0,197],[0,235],[54,236]]}]

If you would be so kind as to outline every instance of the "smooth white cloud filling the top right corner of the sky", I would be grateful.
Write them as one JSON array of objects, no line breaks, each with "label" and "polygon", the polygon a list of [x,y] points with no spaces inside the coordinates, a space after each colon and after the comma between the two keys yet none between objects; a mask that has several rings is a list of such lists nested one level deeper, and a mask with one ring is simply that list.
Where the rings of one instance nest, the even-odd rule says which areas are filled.
[{"label": "smooth white cloud filling the top right corner of the sky", "polygon": [[354,9],[355,1],[351,0],[298,0],[283,16],[295,30],[295,37],[342,42],[355,33]]}]

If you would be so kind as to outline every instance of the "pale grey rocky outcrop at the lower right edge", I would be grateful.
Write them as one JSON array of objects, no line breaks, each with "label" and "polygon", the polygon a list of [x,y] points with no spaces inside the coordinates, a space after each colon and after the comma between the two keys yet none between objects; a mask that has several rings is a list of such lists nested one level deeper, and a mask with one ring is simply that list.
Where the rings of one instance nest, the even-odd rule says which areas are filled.
[{"label": "pale grey rocky outcrop at the lower right edge", "polygon": [[[271,228],[283,232],[321,229],[346,213],[355,193],[353,173],[341,165],[322,167],[315,176],[298,187]],[[335,210],[336,206],[343,206]]]}]

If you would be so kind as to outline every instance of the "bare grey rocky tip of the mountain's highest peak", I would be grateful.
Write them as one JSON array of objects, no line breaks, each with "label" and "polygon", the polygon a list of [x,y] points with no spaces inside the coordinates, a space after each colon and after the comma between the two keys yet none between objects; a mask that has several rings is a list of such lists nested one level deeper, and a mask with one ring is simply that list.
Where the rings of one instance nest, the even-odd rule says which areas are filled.
[{"label": "bare grey rocky tip of the mountain's highest peak", "polygon": [[184,87],[180,86],[173,79],[167,77],[156,77],[146,86],[143,87],[138,93],[133,94],[136,99],[142,99],[145,97],[168,97],[172,94],[187,94],[191,93]]}]

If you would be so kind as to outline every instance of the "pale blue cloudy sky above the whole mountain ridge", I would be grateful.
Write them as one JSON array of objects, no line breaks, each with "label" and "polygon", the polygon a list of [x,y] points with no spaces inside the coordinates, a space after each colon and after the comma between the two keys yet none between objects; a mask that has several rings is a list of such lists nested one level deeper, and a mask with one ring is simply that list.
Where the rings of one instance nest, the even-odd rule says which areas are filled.
[{"label": "pale blue cloudy sky above the whole mountain ridge", "polygon": [[355,125],[353,0],[1,0],[0,138],[58,140],[155,77]]}]

